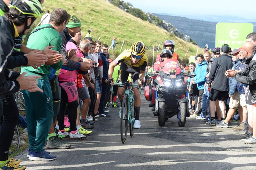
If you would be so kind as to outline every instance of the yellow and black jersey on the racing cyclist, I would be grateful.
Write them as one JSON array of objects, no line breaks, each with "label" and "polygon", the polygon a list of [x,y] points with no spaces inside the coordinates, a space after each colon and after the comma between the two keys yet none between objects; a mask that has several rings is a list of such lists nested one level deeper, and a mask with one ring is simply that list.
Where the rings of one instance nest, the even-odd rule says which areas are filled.
[{"label": "yellow and black jersey on the racing cyclist", "polygon": [[137,64],[132,65],[131,52],[132,52],[132,50],[130,50],[130,49],[124,50],[113,62],[115,62],[115,64],[124,62],[126,65],[128,65],[130,67],[141,67],[141,71],[145,71],[145,68],[148,65],[147,56],[144,55]]}]

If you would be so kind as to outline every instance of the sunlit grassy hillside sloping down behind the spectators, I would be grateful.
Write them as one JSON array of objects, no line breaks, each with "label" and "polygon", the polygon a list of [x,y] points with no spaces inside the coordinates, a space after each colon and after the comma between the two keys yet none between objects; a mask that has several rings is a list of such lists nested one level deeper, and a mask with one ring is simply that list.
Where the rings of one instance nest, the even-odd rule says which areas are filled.
[{"label": "sunlit grassy hillside sloping down behind the spectators", "polygon": [[[123,50],[130,48],[132,43],[136,41],[143,41],[145,45],[151,47],[151,50],[148,48],[146,53],[149,63],[152,63],[154,40],[156,46],[166,39],[175,40],[175,48],[178,48],[177,53],[180,59],[184,61],[188,56],[195,55],[196,50],[199,48],[154,24],[150,24],[148,21],[143,21],[122,11],[106,0],[45,0],[43,4],[44,11],[50,10],[51,12],[57,7],[64,8],[69,14],[76,15],[82,21],[81,30],[83,36],[86,35],[87,30],[91,30],[91,36],[93,36],[94,40],[100,37],[100,41],[109,46],[111,45],[111,40],[117,37],[118,44],[115,51],[110,51],[112,58],[121,53],[120,49],[123,41],[125,41]],[[160,45],[160,48],[163,48],[163,46]],[[189,52],[185,57],[188,48]],[[199,52],[202,52],[202,49],[199,49]]]}]

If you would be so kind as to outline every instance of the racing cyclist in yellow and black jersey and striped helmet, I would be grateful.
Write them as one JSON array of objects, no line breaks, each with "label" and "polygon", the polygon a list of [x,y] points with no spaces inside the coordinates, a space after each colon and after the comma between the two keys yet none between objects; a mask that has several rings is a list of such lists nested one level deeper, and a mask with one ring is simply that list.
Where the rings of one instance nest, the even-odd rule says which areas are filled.
[{"label": "racing cyclist in yellow and black jersey and striped helmet", "polygon": [[[113,71],[116,65],[121,63],[120,72],[118,75],[118,82],[127,82],[128,76],[132,73],[132,81],[135,84],[143,85],[143,78],[145,77],[145,68],[148,64],[148,58],[145,55],[146,47],[143,42],[135,42],[131,49],[124,50],[110,65],[109,65],[109,83],[114,85],[114,80],[112,79]],[[124,86],[118,87],[118,98],[122,104],[123,94],[125,92]],[[134,128],[140,128],[140,90],[139,87],[134,88],[134,97],[135,97],[135,121]],[[121,115],[121,108],[119,115]]]}]

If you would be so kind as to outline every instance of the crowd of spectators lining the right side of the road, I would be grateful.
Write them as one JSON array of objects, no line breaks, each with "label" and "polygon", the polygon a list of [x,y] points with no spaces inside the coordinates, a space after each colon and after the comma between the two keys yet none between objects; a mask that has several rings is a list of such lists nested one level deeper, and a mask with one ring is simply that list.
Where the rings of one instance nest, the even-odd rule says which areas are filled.
[{"label": "crowd of spectators lining the right side of the road", "polygon": [[219,128],[240,118],[233,129],[241,143],[256,144],[256,33],[246,39],[241,48],[231,50],[224,44],[212,53],[196,55],[196,62],[188,64],[187,72],[196,74],[188,79],[189,112],[190,117]]}]

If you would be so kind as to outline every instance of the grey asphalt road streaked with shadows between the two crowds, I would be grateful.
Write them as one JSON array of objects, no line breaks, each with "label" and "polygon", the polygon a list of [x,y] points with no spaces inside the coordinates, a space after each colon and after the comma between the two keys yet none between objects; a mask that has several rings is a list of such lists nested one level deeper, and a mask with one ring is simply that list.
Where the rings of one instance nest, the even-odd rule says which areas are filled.
[{"label": "grey asphalt road streaked with shadows between the two crowds", "polygon": [[[17,156],[27,169],[176,169],[241,170],[256,169],[256,145],[242,144],[232,128],[207,126],[188,118],[185,127],[172,117],[159,127],[149,102],[144,97],[141,128],[134,137],[120,138],[119,108],[110,108],[110,118],[99,118],[86,140],[64,139],[70,149],[47,149],[57,156],[54,161],[30,161],[27,152]],[[235,126],[236,123],[231,125]]]}]

